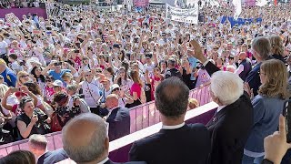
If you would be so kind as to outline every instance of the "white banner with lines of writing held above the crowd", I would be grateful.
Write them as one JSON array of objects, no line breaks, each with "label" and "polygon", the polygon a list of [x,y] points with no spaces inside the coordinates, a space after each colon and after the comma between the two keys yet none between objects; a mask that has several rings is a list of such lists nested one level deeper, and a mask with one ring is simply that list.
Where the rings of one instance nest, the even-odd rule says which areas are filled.
[{"label": "white banner with lines of writing held above the crowd", "polygon": [[181,9],[166,5],[166,18],[177,22],[198,24],[198,5],[189,9]]}]

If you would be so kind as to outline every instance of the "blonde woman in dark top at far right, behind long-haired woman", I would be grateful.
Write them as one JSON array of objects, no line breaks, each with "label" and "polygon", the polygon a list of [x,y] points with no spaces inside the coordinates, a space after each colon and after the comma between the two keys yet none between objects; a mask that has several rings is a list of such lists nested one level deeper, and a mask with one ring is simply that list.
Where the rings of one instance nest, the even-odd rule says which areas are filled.
[{"label": "blonde woman in dark top at far right, behind long-haired woman", "polygon": [[276,59],[279,59],[286,63],[286,60],[284,58],[284,46],[283,46],[283,40],[280,36],[269,36],[268,37],[270,44],[271,44],[271,52],[272,56]]}]

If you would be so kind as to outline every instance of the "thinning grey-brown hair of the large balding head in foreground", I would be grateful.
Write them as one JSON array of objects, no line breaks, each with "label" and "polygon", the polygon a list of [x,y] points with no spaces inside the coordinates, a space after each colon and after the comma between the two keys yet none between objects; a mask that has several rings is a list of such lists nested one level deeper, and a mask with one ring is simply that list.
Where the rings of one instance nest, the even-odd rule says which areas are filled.
[{"label": "thinning grey-brown hair of the large balding head in foreground", "polygon": [[[93,135],[91,136],[90,140],[85,142],[87,144],[75,146],[73,142],[77,142],[77,138],[69,139],[72,138],[72,136],[67,136],[67,128],[85,121],[91,124],[95,124]],[[63,148],[65,149],[65,152],[68,154],[68,156],[76,163],[94,161],[95,159],[101,157],[105,152],[105,139],[107,138],[105,120],[95,114],[85,113],[71,119],[63,128],[62,133],[62,140],[64,145]],[[81,135],[86,136],[87,134]]]}]

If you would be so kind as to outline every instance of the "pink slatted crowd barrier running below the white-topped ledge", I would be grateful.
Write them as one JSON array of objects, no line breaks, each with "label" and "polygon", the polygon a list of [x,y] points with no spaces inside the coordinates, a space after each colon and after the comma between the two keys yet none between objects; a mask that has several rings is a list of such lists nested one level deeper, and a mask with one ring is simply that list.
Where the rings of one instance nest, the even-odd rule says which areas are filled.
[{"label": "pink slatted crowd barrier running below the white-topped ledge", "polygon": [[[211,101],[209,86],[191,90],[189,97],[196,98],[200,102],[200,106],[209,103]],[[155,101],[148,102],[135,108],[130,108],[130,118],[130,133],[151,127],[160,122],[159,112],[156,110]],[[48,140],[49,150],[63,148],[61,132],[50,133],[45,136]],[[28,149],[27,141],[28,139],[24,139],[0,146],[0,158],[18,149]]]}]

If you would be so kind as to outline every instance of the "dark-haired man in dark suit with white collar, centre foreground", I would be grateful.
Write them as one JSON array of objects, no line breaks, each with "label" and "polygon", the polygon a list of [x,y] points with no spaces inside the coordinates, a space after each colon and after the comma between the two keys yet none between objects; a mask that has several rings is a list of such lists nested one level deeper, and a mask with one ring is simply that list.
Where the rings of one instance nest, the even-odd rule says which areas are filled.
[{"label": "dark-haired man in dark suit with white collar, centre foreground", "polygon": [[210,137],[202,124],[184,122],[189,88],[177,77],[170,77],[156,87],[156,108],[162,129],[147,138],[135,141],[129,152],[130,161],[148,164],[206,163]]}]

